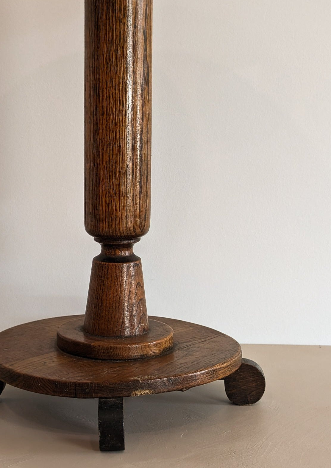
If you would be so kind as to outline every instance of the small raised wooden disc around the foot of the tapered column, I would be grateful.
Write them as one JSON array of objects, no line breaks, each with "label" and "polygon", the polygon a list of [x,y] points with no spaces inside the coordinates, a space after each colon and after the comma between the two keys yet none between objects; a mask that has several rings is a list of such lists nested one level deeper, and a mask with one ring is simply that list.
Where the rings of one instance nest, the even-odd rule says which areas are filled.
[{"label": "small raised wooden disc around the foot of the tapered column", "polygon": [[173,345],[173,329],[157,320],[149,321],[144,335],[124,338],[88,335],[83,321],[79,317],[58,328],[57,345],[62,351],[93,359],[140,359],[165,354]]}]

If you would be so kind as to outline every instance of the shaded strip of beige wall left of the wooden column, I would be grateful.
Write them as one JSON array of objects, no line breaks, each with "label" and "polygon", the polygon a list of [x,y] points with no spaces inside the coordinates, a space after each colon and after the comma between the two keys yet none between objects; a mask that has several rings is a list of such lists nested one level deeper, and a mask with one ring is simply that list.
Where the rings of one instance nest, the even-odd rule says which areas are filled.
[{"label": "shaded strip of beige wall left of the wooden column", "polygon": [[0,43],[4,329],[85,312],[83,2],[0,0]]}]

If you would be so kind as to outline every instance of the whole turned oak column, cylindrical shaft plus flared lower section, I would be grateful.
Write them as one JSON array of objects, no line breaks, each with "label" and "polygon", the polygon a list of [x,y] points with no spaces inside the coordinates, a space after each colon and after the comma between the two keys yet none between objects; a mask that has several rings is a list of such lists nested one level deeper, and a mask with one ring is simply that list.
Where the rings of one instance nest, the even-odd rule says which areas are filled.
[{"label": "whole turned oak column, cylindrical shaft plus flared lower section", "polygon": [[85,228],[94,258],[84,330],[148,330],[134,242],[150,221],[152,0],[85,0]]}]

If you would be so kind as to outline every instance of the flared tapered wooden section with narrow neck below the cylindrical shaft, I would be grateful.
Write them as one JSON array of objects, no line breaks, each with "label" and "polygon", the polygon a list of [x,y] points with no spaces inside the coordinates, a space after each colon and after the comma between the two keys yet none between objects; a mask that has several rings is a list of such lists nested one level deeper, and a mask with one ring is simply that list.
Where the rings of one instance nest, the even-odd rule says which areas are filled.
[{"label": "flared tapered wooden section with narrow neck below the cylindrical shaft", "polygon": [[135,336],[148,330],[144,280],[133,242],[102,245],[92,262],[84,330],[98,336]]}]

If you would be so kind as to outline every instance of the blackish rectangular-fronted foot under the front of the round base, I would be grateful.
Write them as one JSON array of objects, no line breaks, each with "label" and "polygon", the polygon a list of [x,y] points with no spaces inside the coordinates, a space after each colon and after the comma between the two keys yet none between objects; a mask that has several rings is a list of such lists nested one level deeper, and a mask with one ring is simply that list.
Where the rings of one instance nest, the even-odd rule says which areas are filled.
[{"label": "blackish rectangular-fronted foot under the front of the round base", "polygon": [[99,447],[124,450],[123,398],[99,398]]}]

